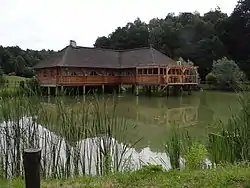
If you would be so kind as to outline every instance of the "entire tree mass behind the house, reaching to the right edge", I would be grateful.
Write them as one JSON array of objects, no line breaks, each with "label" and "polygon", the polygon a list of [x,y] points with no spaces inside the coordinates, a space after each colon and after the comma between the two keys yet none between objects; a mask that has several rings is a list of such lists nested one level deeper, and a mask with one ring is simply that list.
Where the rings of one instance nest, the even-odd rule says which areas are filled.
[{"label": "entire tree mass behind the house, reaching to the right edge", "polygon": [[169,13],[149,23],[137,18],[108,36],[98,37],[94,46],[130,49],[152,45],[175,60],[182,57],[199,66],[202,80],[211,72],[214,60],[227,57],[250,78],[249,12],[250,0],[241,0],[230,16],[216,8],[202,16],[198,12]]}]

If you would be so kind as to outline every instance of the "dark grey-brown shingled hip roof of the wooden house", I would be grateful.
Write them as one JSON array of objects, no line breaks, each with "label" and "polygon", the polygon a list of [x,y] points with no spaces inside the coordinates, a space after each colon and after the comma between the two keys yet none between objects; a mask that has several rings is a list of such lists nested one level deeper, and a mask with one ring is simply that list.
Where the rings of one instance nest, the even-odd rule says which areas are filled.
[{"label": "dark grey-brown shingled hip roof of the wooden house", "polygon": [[134,68],[143,65],[176,64],[163,53],[153,48],[131,50],[110,50],[102,48],[67,46],[51,55],[47,60],[34,66],[46,67],[95,67],[95,68]]}]

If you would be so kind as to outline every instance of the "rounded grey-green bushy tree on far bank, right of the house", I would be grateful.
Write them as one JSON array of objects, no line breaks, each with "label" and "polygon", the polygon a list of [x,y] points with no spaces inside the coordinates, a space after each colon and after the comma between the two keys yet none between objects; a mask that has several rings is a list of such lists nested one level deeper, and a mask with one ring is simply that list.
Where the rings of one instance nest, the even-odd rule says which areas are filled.
[{"label": "rounded grey-green bushy tree on far bank, right of the house", "polygon": [[246,76],[239,66],[226,57],[213,62],[210,75],[216,78],[217,86],[220,89],[235,89],[239,86],[239,83],[246,80]]}]

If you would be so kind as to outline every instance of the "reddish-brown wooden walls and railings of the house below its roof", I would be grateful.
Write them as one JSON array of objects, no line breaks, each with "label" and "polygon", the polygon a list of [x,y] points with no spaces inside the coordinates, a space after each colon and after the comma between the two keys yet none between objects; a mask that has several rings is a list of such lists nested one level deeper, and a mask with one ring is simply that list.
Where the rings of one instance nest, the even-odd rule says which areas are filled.
[{"label": "reddish-brown wooden walls and railings of the house below its roof", "polygon": [[[137,74],[136,74],[137,73]],[[186,70],[142,68],[142,69],[101,69],[101,68],[47,68],[36,71],[43,85],[119,85],[119,84],[195,84],[197,75]]]}]

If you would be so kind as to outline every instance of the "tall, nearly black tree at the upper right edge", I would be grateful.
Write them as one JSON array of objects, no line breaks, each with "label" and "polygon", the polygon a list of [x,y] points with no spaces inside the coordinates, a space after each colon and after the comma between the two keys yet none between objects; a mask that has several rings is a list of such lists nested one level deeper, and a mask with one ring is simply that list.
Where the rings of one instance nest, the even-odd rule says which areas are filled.
[{"label": "tall, nearly black tree at the upper right edge", "polygon": [[221,23],[220,35],[231,58],[250,78],[250,1],[239,0],[231,16]]}]

